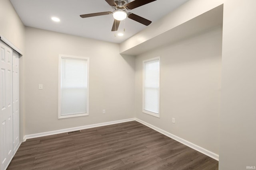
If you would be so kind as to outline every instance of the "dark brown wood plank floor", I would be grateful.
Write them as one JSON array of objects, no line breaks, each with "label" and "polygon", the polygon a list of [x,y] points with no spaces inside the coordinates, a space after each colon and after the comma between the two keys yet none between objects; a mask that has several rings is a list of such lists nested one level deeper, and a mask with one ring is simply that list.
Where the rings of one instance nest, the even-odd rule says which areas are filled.
[{"label": "dark brown wood plank floor", "polygon": [[218,161],[136,121],[28,139],[8,170],[218,170]]}]

